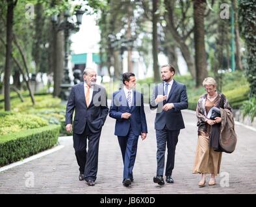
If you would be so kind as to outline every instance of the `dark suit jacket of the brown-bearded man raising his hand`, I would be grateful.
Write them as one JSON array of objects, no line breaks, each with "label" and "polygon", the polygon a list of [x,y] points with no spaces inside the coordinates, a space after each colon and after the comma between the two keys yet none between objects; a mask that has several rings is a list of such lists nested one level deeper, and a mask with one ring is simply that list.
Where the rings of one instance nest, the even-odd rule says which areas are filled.
[{"label": "dark suit jacket of the brown-bearded man raising his hand", "polygon": [[[164,129],[166,125],[168,130],[179,130],[185,128],[182,109],[188,108],[188,98],[186,96],[186,86],[183,83],[173,80],[172,89],[166,102],[155,104],[155,98],[164,93],[164,82],[155,86],[150,100],[150,109],[157,109],[155,116],[155,129]],[[163,111],[162,107],[165,103],[173,103],[174,108],[168,111]]]}]

